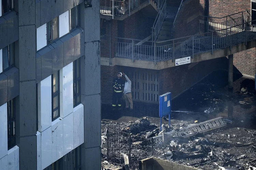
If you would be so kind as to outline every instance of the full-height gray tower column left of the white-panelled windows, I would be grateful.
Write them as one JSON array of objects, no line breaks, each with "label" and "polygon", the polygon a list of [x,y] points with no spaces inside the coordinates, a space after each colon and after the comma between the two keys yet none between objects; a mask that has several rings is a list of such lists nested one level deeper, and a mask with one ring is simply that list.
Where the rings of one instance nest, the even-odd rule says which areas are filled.
[{"label": "full-height gray tower column left of the white-panelled windows", "polygon": [[[36,28],[35,0],[18,0],[19,13],[19,97],[16,109],[16,144],[19,169],[37,169],[36,112]],[[15,63],[17,64],[17,63]]]}]

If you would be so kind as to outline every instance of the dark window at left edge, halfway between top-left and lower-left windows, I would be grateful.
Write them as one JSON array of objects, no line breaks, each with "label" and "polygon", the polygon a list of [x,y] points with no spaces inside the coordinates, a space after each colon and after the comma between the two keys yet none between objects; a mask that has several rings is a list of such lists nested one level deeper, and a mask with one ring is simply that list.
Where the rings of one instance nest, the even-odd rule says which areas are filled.
[{"label": "dark window at left edge, halfway between top-left and lower-left windows", "polygon": [[2,49],[3,53],[3,70],[14,66],[14,43]]}]

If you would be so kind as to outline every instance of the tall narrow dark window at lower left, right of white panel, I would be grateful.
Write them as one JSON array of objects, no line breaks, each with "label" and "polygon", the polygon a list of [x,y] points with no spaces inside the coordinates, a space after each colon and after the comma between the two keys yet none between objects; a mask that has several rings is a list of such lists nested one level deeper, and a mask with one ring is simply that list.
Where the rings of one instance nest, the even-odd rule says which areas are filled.
[{"label": "tall narrow dark window at lower left, right of white panel", "polygon": [[8,150],[16,145],[15,141],[15,106],[14,99],[7,103],[7,133],[8,133]]}]

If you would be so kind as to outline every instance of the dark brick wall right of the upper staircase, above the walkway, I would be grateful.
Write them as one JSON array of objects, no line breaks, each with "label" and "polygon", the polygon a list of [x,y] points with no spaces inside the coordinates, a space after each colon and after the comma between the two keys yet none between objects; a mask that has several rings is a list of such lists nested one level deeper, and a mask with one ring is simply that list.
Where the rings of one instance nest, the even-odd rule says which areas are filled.
[{"label": "dark brick wall right of the upper staircase, above the walkway", "polygon": [[199,0],[187,1],[180,9],[174,27],[174,37],[185,37],[199,32]]}]

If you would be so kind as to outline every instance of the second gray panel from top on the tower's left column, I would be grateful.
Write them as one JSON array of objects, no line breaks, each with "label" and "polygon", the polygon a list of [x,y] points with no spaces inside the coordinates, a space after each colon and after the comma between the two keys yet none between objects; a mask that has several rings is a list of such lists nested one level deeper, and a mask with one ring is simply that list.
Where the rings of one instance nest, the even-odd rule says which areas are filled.
[{"label": "second gray panel from top on the tower's left column", "polygon": [[36,79],[35,42],[35,25],[19,27],[19,81]]}]

